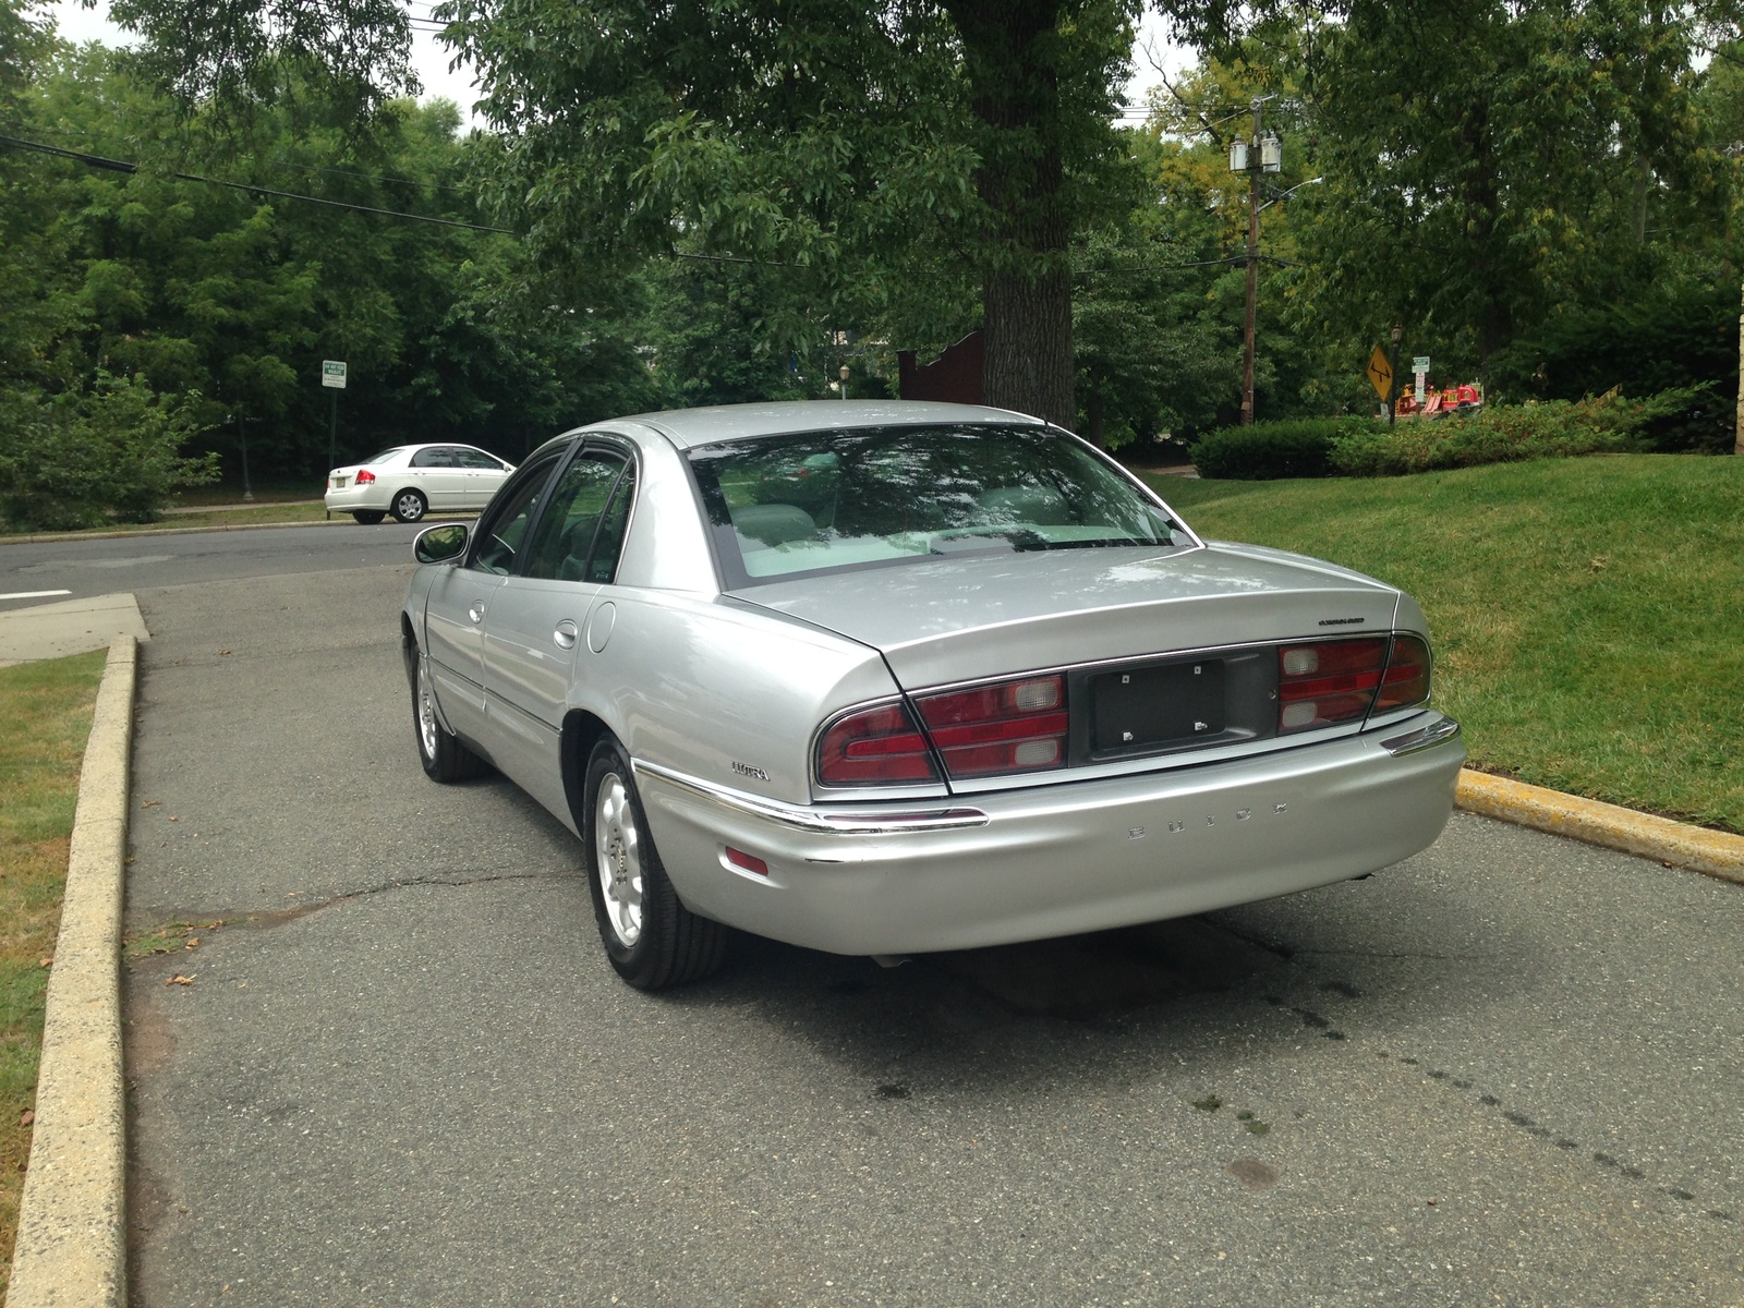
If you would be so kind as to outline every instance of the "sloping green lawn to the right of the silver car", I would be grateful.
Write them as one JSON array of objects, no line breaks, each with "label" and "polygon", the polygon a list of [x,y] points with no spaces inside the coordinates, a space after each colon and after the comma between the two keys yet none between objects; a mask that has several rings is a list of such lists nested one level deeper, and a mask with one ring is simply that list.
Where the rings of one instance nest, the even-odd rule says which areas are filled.
[{"label": "sloping green lawn to the right of the silver car", "polygon": [[1153,485],[1202,535],[1416,596],[1474,766],[1744,832],[1744,459]]}]

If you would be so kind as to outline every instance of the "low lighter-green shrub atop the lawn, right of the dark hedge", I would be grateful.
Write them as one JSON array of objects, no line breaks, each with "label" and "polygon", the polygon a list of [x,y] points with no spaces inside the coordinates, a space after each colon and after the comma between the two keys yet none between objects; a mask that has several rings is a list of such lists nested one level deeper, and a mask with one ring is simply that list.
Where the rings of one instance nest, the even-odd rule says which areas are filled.
[{"label": "low lighter-green shrub atop the lawn, right of the dark hedge", "polygon": [[1435,467],[1475,467],[1523,459],[1566,459],[1638,448],[1667,413],[1690,406],[1702,387],[1624,399],[1615,391],[1580,401],[1484,408],[1472,415],[1413,419],[1343,436],[1331,464],[1343,476],[1400,476]]}]

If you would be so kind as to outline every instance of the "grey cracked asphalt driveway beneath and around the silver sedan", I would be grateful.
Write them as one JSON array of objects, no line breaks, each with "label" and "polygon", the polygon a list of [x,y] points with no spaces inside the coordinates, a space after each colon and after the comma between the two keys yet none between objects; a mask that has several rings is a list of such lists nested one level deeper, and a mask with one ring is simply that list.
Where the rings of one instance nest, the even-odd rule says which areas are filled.
[{"label": "grey cracked asphalt driveway beneath and around the silver sedan", "polygon": [[345,563],[138,589],[127,921],[199,944],[127,968],[136,1305],[1744,1301],[1741,888],[1460,814],[1212,917],[644,996],[567,832],[424,778],[408,569]]}]

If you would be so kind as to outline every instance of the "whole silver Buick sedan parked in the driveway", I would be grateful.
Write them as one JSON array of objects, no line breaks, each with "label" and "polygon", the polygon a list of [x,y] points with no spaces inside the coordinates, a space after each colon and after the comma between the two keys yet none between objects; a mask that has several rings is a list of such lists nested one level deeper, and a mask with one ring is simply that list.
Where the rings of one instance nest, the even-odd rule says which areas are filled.
[{"label": "whole silver Buick sedan parked in the driveway", "polygon": [[1202,541],[994,408],[600,422],[415,556],[426,773],[494,764],[576,832],[644,989],[727,928],[902,956],[1364,875],[1465,755],[1407,595]]}]

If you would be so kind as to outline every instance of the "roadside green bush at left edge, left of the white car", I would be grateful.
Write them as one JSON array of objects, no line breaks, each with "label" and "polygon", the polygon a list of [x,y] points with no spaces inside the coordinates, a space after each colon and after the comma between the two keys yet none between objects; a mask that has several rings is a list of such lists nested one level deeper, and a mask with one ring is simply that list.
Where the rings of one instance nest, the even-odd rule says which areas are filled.
[{"label": "roadside green bush at left edge, left of the white car", "polygon": [[153,521],[176,487],[218,480],[216,453],[181,457],[197,399],[108,375],[84,394],[0,394],[0,516],[16,530]]}]

